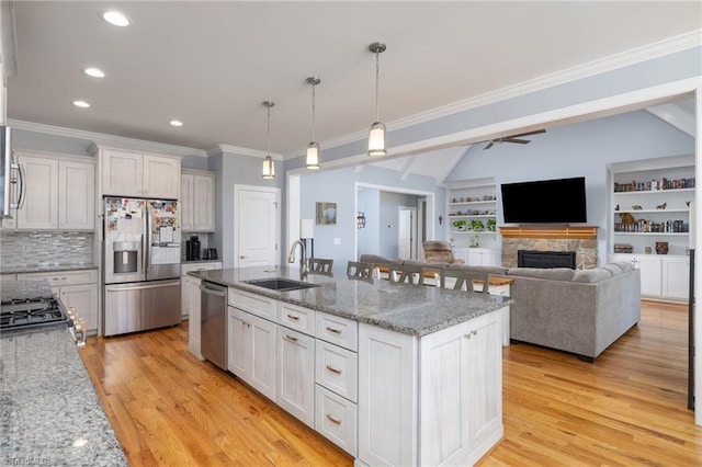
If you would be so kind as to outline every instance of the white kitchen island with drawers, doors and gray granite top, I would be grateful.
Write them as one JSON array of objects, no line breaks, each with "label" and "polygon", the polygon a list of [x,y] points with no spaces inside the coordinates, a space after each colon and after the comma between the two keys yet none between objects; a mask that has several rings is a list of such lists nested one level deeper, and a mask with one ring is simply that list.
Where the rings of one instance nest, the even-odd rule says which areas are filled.
[{"label": "white kitchen island with drawers, doors and gray granite top", "polygon": [[[337,270],[203,271],[228,287],[227,368],[365,465],[472,465],[503,434],[509,297],[358,281]],[[192,317],[191,317],[192,319]]]}]

